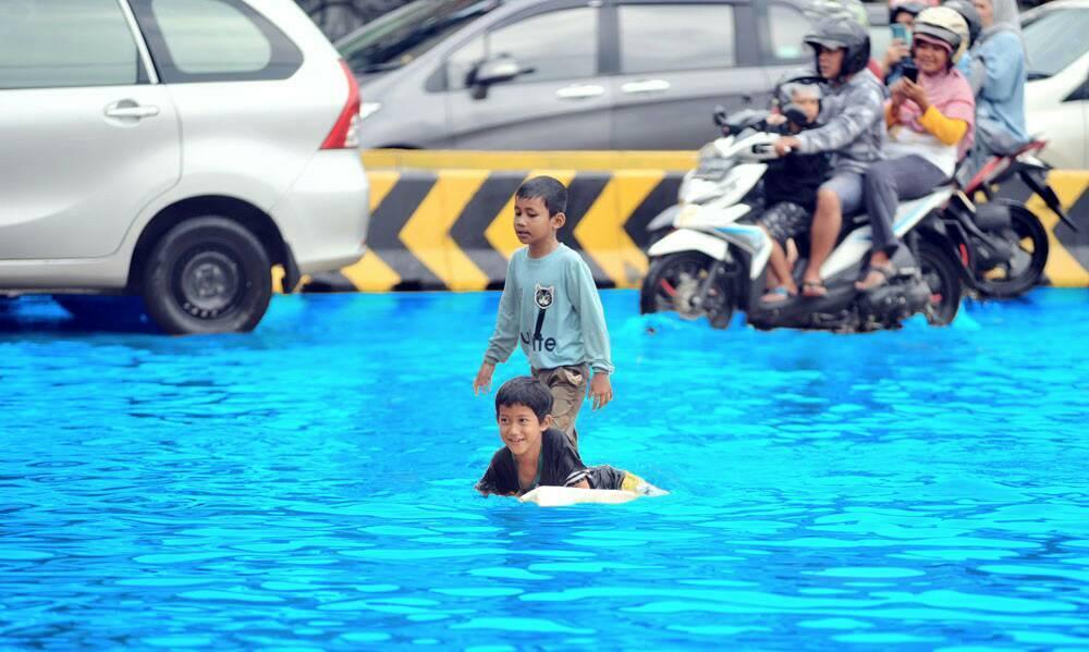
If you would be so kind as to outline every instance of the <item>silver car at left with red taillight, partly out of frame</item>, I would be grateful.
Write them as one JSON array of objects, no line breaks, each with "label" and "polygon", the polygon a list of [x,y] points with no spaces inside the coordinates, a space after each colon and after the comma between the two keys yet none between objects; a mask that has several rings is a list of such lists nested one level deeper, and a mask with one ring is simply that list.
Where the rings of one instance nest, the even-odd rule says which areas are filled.
[{"label": "silver car at left with red taillight, partly out of frame", "polygon": [[273,266],[291,290],[363,255],[358,89],[291,0],[0,14],[0,292],[139,294],[168,332],[245,331]]}]

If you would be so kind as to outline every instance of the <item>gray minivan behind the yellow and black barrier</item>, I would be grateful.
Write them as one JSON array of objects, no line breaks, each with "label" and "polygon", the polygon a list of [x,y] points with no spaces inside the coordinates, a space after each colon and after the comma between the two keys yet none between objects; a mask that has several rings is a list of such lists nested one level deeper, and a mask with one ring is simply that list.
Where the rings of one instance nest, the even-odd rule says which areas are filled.
[{"label": "gray minivan behind the yellow and black barrier", "polygon": [[799,0],[416,0],[335,45],[364,147],[695,149],[808,29]]}]

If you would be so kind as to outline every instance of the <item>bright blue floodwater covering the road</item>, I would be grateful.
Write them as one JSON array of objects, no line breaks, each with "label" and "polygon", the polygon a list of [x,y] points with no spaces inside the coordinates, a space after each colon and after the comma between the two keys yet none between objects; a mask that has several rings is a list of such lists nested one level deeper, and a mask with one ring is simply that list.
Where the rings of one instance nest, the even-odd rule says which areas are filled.
[{"label": "bright blue floodwater covering the road", "polygon": [[672,494],[555,509],[472,490],[495,294],[0,308],[0,648],[1089,649],[1089,292],[849,336],[603,299],[583,457]]}]

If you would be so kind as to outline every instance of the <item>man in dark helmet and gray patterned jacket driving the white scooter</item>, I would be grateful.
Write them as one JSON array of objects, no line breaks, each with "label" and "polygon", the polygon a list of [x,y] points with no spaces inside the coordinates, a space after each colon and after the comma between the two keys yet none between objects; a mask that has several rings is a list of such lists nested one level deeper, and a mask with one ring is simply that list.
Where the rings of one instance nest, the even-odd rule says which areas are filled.
[{"label": "man in dark helmet and gray patterned jacket driving the white scooter", "polygon": [[832,153],[832,179],[817,193],[809,246],[809,262],[803,276],[803,294],[824,296],[828,288],[820,268],[840,236],[844,213],[862,207],[866,169],[882,157],[882,121],[885,87],[867,70],[870,37],[854,21],[822,19],[806,45],[813,48],[817,70],[829,84],[821,100],[823,126],[779,138],[775,153]]}]

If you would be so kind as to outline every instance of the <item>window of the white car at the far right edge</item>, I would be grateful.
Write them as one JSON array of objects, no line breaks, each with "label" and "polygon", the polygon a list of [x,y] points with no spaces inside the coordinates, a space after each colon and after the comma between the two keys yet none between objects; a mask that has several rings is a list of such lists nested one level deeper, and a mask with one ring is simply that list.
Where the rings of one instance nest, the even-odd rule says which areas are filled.
[{"label": "window of the white car at the far right edge", "polygon": [[1050,77],[1089,50],[1089,9],[1066,8],[1043,12],[1024,25],[1028,78]]}]

